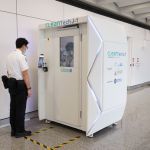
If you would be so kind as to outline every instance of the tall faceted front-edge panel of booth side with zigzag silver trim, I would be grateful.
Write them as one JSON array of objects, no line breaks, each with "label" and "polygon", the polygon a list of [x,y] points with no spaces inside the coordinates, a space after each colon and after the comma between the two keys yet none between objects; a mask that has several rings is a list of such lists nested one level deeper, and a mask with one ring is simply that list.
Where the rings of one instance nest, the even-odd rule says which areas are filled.
[{"label": "tall faceted front-edge panel of booth side with zigzag silver trim", "polygon": [[102,111],[102,37],[93,21],[88,22],[87,135]]}]

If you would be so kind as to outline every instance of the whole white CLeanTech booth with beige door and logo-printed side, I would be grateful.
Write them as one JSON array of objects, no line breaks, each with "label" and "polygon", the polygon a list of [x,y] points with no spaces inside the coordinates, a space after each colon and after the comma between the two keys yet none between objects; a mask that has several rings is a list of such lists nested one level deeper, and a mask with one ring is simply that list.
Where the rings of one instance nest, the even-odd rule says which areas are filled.
[{"label": "whole white CLeanTech booth with beige door and logo-printed side", "polygon": [[127,37],[115,22],[81,17],[40,25],[39,119],[87,136],[123,117]]}]

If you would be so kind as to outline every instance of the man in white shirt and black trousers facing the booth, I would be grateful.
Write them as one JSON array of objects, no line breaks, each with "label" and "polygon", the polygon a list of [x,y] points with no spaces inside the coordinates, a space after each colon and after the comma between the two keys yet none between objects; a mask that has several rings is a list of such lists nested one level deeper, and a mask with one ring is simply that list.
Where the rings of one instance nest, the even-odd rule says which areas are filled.
[{"label": "man in white shirt and black trousers facing the booth", "polygon": [[31,131],[25,130],[25,110],[27,98],[31,96],[28,64],[25,52],[28,49],[25,38],[16,40],[16,50],[7,58],[8,87],[10,93],[10,124],[11,136],[16,138],[30,136]]}]

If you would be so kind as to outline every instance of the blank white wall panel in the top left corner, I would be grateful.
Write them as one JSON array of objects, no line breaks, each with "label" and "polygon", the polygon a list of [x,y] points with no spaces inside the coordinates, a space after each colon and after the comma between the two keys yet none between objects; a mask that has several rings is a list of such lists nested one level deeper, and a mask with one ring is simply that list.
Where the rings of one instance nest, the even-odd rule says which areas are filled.
[{"label": "blank white wall panel in the top left corner", "polygon": [[0,10],[16,13],[16,0],[0,0]]}]

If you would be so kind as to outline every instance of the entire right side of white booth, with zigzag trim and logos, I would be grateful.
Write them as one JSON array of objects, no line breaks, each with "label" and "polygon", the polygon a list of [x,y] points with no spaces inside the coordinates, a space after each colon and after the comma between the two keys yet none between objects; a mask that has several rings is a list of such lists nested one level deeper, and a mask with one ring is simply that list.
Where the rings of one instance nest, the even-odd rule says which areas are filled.
[{"label": "entire right side of white booth, with zigzag trim and logos", "polygon": [[127,96],[127,39],[121,26],[98,18],[89,19],[88,33],[87,136],[90,136],[123,116]]}]

